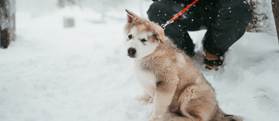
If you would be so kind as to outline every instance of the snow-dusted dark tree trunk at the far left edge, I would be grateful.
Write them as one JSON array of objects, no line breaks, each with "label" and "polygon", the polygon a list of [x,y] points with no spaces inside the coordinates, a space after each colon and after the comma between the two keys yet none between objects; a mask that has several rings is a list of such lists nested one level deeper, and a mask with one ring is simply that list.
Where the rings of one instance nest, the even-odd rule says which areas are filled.
[{"label": "snow-dusted dark tree trunk at the far left edge", "polygon": [[0,47],[15,40],[15,0],[0,0]]}]

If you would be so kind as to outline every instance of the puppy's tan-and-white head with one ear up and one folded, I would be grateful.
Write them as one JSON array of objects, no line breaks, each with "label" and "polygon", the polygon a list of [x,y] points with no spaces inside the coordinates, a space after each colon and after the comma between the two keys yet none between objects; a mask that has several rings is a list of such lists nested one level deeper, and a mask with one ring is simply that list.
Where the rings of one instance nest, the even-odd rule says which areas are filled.
[{"label": "puppy's tan-and-white head with one ear up and one folded", "polygon": [[125,31],[125,47],[127,55],[140,59],[153,53],[160,43],[165,42],[163,29],[154,22],[140,18],[129,10]]}]

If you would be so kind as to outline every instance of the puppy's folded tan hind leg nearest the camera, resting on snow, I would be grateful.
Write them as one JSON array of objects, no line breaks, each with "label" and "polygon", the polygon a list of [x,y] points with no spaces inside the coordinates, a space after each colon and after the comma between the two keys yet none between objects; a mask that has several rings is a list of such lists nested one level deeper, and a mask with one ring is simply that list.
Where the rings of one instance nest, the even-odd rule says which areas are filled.
[{"label": "puppy's folded tan hind leg nearest the camera, resting on snow", "polygon": [[217,102],[212,89],[192,85],[179,96],[180,111],[186,121],[209,121],[216,114]]}]

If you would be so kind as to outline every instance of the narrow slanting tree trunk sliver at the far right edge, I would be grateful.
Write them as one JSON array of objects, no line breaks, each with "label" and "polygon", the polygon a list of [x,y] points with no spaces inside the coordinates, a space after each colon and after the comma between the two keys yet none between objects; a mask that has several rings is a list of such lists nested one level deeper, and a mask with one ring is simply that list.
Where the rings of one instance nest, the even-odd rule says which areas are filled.
[{"label": "narrow slanting tree trunk sliver at the far right edge", "polygon": [[277,37],[279,42],[279,1],[278,0],[272,0],[272,11],[274,15]]}]

